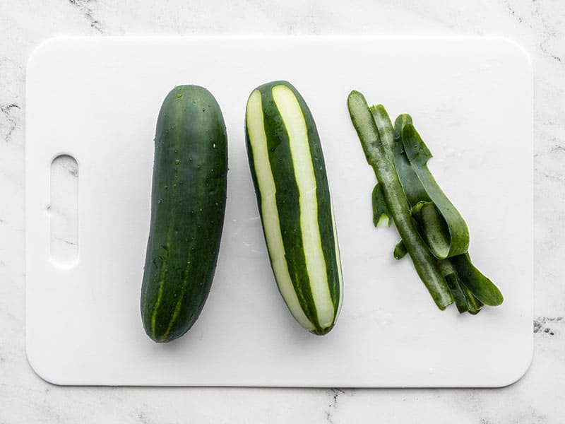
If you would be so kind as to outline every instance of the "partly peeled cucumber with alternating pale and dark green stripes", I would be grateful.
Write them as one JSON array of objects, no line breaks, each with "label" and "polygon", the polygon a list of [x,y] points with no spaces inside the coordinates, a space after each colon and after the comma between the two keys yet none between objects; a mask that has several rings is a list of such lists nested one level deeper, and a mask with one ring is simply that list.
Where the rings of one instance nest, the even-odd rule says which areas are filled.
[{"label": "partly peeled cucumber with alternating pale and dark green stripes", "polygon": [[246,146],[278,288],[297,322],[328,333],[343,300],[338,237],[316,124],[287,81],[247,101]]}]

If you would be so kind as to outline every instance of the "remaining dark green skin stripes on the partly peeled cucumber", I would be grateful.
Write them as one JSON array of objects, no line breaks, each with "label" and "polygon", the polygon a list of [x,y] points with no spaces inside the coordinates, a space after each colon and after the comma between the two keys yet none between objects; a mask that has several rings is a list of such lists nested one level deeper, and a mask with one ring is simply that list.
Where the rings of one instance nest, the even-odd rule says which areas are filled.
[{"label": "remaining dark green skin stripes on the partly peeled cucumber", "polygon": [[[334,319],[330,326],[322,326],[316,317],[316,306],[311,293],[309,276],[306,271],[306,258],[302,249],[302,232],[300,229],[300,208],[297,181],[293,168],[292,155],[290,153],[289,140],[285,130],[285,124],[280,117],[278,107],[273,98],[272,90],[275,86],[286,86],[292,90],[302,109],[307,126],[309,141],[309,151],[314,167],[314,177],[316,179],[316,199],[318,206],[318,224],[321,236],[321,246],[323,257],[326,262],[326,275],[328,288],[333,302]],[[268,142],[268,152],[270,167],[276,186],[276,204],[279,213],[280,230],[283,234],[287,267],[290,272],[292,284],[299,299],[302,311],[309,319],[314,329],[311,333],[316,335],[327,334],[335,325],[340,308],[340,298],[343,295],[340,288],[340,261],[336,259],[336,238],[333,230],[333,212],[331,205],[331,194],[326,175],[326,165],[319,139],[318,130],[314,118],[309,110],[307,103],[302,98],[298,90],[288,81],[272,81],[258,86],[255,90],[261,93],[263,105],[264,127]],[[254,91],[255,91],[254,90]],[[261,191],[258,187],[256,172],[254,168],[254,155],[249,139],[249,132],[246,122],[246,148],[251,169],[251,178],[254,182],[257,203],[261,219]],[[270,257],[271,263],[273,258]],[[277,276],[275,275],[275,278]]]}]

